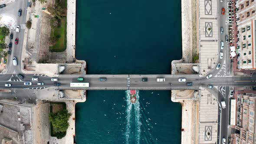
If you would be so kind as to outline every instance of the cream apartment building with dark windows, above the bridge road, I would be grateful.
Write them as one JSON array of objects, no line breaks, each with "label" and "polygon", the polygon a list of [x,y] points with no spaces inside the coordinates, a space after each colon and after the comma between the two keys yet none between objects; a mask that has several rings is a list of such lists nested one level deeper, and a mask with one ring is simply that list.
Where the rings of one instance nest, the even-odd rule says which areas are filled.
[{"label": "cream apartment building with dark windows, above the bridge road", "polygon": [[236,1],[238,69],[256,69],[256,1]]}]

